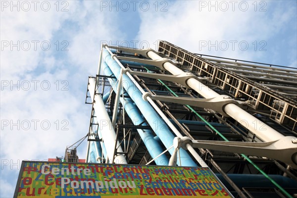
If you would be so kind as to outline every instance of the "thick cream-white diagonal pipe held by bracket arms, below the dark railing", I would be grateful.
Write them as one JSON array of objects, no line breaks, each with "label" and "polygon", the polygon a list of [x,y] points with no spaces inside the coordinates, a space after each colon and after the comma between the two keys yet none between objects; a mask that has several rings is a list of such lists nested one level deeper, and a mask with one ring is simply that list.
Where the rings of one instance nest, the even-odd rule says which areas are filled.
[{"label": "thick cream-white diagonal pipe held by bracket arms, below the dark railing", "polygon": [[[159,56],[153,51],[148,51],[148,57],[150,57],[153,60],[162,58],[161,56]],[[175,65],[171,64],[170,62],[165,62],[163,67],[173,75],[184,73],[183,70],[177,68]],[[198,94],[204,97],[205,99],[219,96],[218,93],[214,92],[206,85],[200,83],[195,78],[190,78],[187,81],[187,84],[189,87],[197,91]],[[225,105],[224,111],[264,142],[271,142],[271,141],[279,140],[282,137],[284,137],[282,134],[278,133],[276,130],[269,127],[268,125],[265,125],[259,119],[253,117],[247,111],[240,108],[236,104],[230,103]]]}]

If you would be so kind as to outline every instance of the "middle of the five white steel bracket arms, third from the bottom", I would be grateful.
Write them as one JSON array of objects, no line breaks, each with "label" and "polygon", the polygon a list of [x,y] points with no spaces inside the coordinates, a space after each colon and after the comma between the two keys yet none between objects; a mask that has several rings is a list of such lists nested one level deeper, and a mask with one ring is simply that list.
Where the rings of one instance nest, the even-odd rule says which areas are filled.
[{"label": "middle of the five white steel bracket arms, third from the bottom", "polygon": [[131,69],[124,69],[123,73],[126,74],[126,72],[129,72],[130,74],[137,75],[137,76],[143,76],[143,77],[148,77],[148,78],[153,78],[153,79],[159,79],[159,80],[165,80],[165,81],[171,81],[171,82],[176,82],[179,83],[186,88],[190,88],[187,85],[187,81],[190,78],[195,78],[201,83],[206,83],[207,80],[205,78],[198,77],[190,72],[185,72],[182,74],[178,75],[168,75],[168,74],[155,74],[155,73],[147,73],[147,72],[139,72],[139,71],[132,71]]}]

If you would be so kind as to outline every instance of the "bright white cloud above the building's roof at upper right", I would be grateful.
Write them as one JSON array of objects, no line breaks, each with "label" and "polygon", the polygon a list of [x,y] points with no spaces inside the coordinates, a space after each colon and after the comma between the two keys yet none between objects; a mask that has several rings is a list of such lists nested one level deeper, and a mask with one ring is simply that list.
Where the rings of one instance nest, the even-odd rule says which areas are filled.
[{"label": "bright white cloud above the building's roof at upper right", "polygon": [[[202,2],[207,5],[202,6]],[[217,6],[211,7],[209,3],[215,2]],[[270,60],[274,46],[280,45],[278,40],[270,39],[282,31],[291,32],[291,26],[296,25],[296,5],[290,2],[244,1],[247,11],[243,11],[244,4],[239,6],[241,1],[236,1],[234,11],[231,1],[224,1],[229,8],[223,11],[221,2],[171,1],[165,12],[140,11],[142,24],[137,39],[148,40],[151,46],[156,40],[165,40],[196,53],[265,62]],[[260,51],[260,47],[266,51]]]}]

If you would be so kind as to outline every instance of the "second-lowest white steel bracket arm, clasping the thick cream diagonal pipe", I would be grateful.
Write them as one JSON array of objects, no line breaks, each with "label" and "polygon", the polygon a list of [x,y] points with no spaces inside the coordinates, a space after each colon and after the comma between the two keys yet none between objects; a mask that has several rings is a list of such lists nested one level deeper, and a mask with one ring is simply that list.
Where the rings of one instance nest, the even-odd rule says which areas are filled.
[{"label": "second-lowest white steel bracket arm, clasping the thick cream diagonal pipe", "polygon": [[198,106],[202,108],[213,109],[216,112],[219,112],[220,114],[226,117],[230,117],[224,111],[224,107],[226,104],[233,103],[242,108],[245,105],[245,102],[232,99],[227,95],[220,95],[212,99],[195,99],[195,98],[186,98],[186,97],[158,96],[158,95],[151,95],[150,93],[146,92],[145,94],[143,94],[143,99],[148,101],[147,97],[151,99],[160,100],[160,101],[166,101],[166,102],[172,102],[172,103],[178,103],[178,104],[184,104],[184,105],[188,104],[191,106]]}]

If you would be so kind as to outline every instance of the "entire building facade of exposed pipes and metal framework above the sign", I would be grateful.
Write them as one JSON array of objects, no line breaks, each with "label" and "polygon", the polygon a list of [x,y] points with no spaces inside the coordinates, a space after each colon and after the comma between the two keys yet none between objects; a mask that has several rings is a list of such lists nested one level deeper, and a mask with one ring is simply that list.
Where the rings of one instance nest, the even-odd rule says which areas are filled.
[{"label": "entire building facade of exposed pipes and metal framework above the sign", "polygon": [[[158,51],[102,47],[86,95],[87,162],[203,166],[234,197],[296,193],[296,69],[195,54],[166,41]],[[289,161],[268,148],[219,148],[221,141],[257,149],[284,139]]]}]

